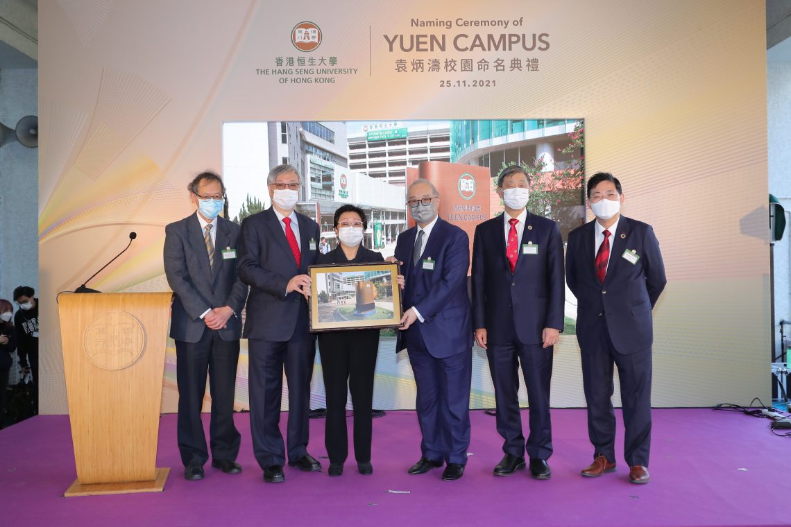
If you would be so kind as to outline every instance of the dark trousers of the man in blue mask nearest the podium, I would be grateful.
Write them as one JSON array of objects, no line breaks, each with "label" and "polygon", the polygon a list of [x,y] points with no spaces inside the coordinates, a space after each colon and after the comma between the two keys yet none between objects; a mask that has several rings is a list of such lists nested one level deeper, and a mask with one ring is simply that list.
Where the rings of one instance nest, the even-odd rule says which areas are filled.
[{"label": "dark trousers of the man in blue mask nearest the podium", "polygon": [[206,371],[209,372],[211,393],[211,457],[236,460],[241,441],[233,424],[238,362],[239,341],[223,341],[212,329],[204,329],[198,342],[176,341],[176,382],[179,386],[176,428],[184,466],[202,466],[209,459],[200,415],[206,393]]}]

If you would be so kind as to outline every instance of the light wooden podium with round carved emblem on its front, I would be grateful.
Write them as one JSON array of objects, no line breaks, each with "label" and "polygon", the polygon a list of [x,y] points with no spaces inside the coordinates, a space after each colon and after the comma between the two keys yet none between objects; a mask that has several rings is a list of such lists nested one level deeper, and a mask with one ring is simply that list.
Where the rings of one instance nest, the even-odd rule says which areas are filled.
[{"label": "light wooden podium with round carved emblem on its front", "polygon": [[157,434],[172,293],[60,295],[77,480],[68,496],[161,492]]}]

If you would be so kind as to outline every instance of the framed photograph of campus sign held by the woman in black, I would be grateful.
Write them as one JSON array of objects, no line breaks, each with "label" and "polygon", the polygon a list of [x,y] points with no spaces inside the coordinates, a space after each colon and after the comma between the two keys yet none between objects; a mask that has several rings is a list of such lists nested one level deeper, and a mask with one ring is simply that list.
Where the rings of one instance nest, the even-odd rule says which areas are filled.
[{"label": "framed photograph of campus sign held by the woman in black", "polygon": [[400,326],[403,312],[398,268],[390,262],[311,265],[310,330]]}]

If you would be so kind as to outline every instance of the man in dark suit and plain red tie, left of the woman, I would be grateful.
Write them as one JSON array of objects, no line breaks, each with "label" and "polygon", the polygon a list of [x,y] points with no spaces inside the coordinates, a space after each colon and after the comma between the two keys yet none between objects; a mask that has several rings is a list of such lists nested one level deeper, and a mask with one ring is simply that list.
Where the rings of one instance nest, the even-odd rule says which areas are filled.
[{"label": "man in dark suit and plain red tie, left of the woman", "polygon": [[284,480],[286,450],[278,423],[283,369],[289,383],[288,463],[305,472],[321,469],[308,454],[310,378],[316,340],[308,333],[310,277],[319,225],[294,211],[300,175],[291,165],[267,176],[271,208],[242,222],[239,277],[250,285],[244,337],[249,342],[250,425],[263,480]]}]

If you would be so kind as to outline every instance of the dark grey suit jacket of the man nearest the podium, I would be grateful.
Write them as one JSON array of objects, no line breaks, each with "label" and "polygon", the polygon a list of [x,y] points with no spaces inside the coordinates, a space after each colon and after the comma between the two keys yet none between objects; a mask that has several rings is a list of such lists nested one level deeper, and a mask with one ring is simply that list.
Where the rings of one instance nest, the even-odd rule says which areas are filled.
[{"label": "dark grey suit jacket of the man nearest the podium", "polygon": [[[229,306],[237,317],[220,329],[223,341],[241,337],[240,317],[248,287],[237,276],[237,258],[223,259],[226,247],[237,249],[239,226],[218,216],[214,242],[214,271],[197,213],[165,227],[165,277],[175,293],[170,336],[176,341],[198,342],[206,328],[200,315],[210,307]],[[238,251],[238,249],[237,249]]]}]

